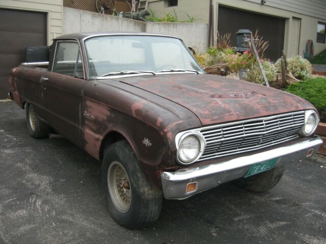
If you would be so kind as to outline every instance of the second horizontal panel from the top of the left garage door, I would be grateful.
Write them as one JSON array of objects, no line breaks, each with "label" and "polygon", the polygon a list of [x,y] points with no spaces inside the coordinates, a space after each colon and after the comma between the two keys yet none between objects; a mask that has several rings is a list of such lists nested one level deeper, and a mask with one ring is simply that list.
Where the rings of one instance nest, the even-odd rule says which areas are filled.
[{"label": "second horizontal panel from the top of the left garage door", "polygon": [[25,47],[42,46],[46,42],[46,34],[22,33],[22,32],[0,32],[0,53],[21,54]]}]

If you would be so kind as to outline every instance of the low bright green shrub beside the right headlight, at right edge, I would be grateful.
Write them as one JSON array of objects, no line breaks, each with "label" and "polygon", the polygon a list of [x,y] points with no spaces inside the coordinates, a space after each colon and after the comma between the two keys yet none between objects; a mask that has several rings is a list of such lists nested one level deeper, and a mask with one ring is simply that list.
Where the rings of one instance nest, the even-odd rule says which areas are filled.
[{"label": "low bright green shrub beside the right headlight, at right edge", "polygon": [[307,81],[293,83],[286,91],[302,97],[316,107],[320,119],[326,120],[326,78],[317,77]]}]

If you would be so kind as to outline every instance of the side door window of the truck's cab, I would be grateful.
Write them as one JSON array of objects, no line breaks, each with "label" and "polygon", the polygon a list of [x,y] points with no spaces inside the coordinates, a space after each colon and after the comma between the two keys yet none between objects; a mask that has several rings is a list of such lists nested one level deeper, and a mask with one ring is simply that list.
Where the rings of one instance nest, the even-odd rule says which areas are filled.
[{"label": "side door window of the truck's cab", "polygon": [[82,57],[76,42],[59,42],[53,72],[84,78]]}]

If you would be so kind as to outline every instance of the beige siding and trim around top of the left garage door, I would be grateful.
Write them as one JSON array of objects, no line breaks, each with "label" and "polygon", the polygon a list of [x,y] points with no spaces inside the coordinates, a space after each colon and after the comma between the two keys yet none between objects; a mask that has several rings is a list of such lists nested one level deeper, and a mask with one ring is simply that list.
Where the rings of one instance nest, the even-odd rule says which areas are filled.
[{"label": "beige siding and trim around top of the left garage door", "polygon": [[47,13],[47,44],[62,34],[62,0],[1,0],[0,8]]}]

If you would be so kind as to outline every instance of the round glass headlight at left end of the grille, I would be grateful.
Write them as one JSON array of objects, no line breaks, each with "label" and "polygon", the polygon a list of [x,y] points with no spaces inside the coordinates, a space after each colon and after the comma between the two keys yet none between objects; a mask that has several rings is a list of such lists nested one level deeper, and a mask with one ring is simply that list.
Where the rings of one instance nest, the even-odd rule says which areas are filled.
[{"label": "round glass headlight at left end of the grille", "polygon": [[196,136],[185,137],[179,144],[179,159],[184,163],[192,162],[200,153],[200,142]]}]

